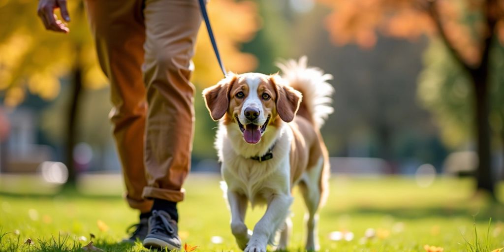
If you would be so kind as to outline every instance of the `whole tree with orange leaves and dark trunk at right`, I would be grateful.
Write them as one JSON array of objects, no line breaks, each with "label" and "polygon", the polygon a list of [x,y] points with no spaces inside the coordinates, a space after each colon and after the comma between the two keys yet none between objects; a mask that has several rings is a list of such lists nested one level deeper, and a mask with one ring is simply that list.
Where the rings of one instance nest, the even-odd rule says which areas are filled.
[{"label": "whole tree with orange leaves and dark trunk at right", "polygon": [[489,133],[490,48],[504,40],[499,0],[319,0],[332,8],[327,28],[338,45],[372,47],[376,31],[415,39],[422,34],[443,41],[472,86],[474,128],[479,164],[478,190],[495,197]]}]

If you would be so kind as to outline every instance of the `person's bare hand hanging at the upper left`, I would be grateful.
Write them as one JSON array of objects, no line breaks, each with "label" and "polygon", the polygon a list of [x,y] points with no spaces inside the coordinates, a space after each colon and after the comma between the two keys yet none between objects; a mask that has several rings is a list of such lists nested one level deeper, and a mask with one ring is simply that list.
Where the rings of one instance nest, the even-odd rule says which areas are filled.
[{"label": "person's bare hand hanging at the upper left", "polygon": [[40,0],[38,2],[37,13],[44,23],[46,30],[68,33],[70,29],[63,21],[57,18],[56,14],[54,14],[54,9],[57,8],[59,8],[61,12],[61,17],[65,21],[70,22],[67,0]]}]

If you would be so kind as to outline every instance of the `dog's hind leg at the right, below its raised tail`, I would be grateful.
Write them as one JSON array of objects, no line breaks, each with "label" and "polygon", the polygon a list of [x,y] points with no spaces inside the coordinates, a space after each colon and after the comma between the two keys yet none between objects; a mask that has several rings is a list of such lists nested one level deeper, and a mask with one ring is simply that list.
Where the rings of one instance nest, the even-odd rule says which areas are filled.
[{"label": "dog's hind leg at the right, below its raised tail", "polygon": [[306,222],[305,248],[308,251],[318,251],[320,249],[318,235],[319,215],[317,214],[317,210],[321,200],[319,179],[322,167],[323,162],[319,162],[317,167],[313,167],[303,175],[303,180],[299,183],[299,189],[308,210],[304,215],[304,221]]}]

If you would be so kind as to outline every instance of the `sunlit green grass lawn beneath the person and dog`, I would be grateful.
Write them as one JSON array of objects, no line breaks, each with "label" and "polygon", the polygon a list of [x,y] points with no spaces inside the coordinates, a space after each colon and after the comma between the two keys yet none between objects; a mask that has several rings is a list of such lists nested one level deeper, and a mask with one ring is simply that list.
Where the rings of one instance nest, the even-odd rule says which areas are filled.
[{"label": "sunlit green grass lawn beneath the person and dog", "polygon": [[[89,186],[99,191],[100,184]],[[230,232],[219,178],[191,174],[185,188],[186,199],[179,204],[182,241],[198,245],[196,251],[240,251]],[[0,251],[79,251],[90,233],[96,236],[94,245],[105,251],[144,251],[140,243],[117,243],[138,218],[119,191],[112,190],[117,196],[0,194]],[[502,184],[499,193],[504,195]],[[295,196],[291,251],[302,250],[304,243],[304,209],[297,192]],[[264,211],[249,210],[249,228]],[[444,251],[491,251],[504,247],[503,221],[504,206],[475,196],[469,179],[438,178],[420,188],[408,177],[334,176],[329,201],[321,211],[319,236],[322,251],[425,251],[425,244]],[[99,228],[98,222],[105,225]],[[376,235],[366,239],[369,228]],[[353,232],[354,238],[334,241],[329,238],[333,231]],[[212,243],[212,236],[223,242]],[[24,245],[28,238],[33,245]]]}]

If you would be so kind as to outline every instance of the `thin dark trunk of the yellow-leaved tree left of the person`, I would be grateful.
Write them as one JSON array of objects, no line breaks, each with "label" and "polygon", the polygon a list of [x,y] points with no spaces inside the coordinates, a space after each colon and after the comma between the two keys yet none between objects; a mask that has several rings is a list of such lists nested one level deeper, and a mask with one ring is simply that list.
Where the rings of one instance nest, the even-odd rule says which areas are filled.
[{"label": "thin dark trunk of the yellow-leaved tree left of the person", "polygon": [[82,68],[76,64],[72,73],[72,95],[70,97],[68,121],[67,121],[67,146],[66,146],[66,163],[68,167],[68,181],[66,187],[74,187],[76,185],[78,171],[74,162],[74,147],[77,144],[77,125],[79,107],[81,104],[82,94]]}]

